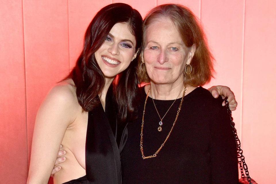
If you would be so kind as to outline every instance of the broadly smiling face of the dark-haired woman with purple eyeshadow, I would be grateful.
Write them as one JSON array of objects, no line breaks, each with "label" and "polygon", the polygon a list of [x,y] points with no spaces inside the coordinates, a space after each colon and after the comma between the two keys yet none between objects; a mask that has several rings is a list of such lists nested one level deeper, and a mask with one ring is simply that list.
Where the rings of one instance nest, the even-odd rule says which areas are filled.
[{"label": "broadly smiling face of the dark-haired woman with purple eyeshadow", "polygon": [[105,77],[113,78],[124,71],[136,57],[136,41],[126,23],[117,23],[110,30],[95,58]]}]

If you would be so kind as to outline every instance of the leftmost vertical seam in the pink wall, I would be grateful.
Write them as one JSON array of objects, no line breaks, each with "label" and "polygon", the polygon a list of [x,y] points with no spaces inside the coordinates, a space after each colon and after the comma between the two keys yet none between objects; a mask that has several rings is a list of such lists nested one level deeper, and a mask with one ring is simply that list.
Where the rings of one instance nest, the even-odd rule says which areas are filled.
[{"label": "leftmost vertical seam in the pink wall", "polygon": [[[28,141],[28,118],[27,118],[27,85],[26,85],[26,55],[25,55],[25,34],[24,34],[24,8],[23,8],[23,0],[21,1],[22,5],[22,32],[23,32],[23,63],[24,63],[24,83],[25,83],[25,123],[26,123],[26,141],[27,141],[27,160],[28,160],[28,168],[29,168],[29,141]],[[27,170],[28,170],[27,168]]]}]

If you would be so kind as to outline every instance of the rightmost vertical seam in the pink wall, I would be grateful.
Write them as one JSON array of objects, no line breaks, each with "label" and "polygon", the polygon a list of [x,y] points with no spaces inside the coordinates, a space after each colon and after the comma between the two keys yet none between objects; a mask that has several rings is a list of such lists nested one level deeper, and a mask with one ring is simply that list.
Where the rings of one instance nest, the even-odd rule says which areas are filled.
[{"label": "rightmost vertical seam in the pink wall", "polygon": [[242,123],[243,123],[243,104],[244,104],[244,99],[243,99],[243,92],[244,92],[244,35],[245,35],[245,4],[246,0],[243,1],[244,7],[243,7],[243,25],[242,25],[242,59],[241,59],[241,119],[240,119],[240,130],[241,130],[241,136],[240,139],[242,141]]}]

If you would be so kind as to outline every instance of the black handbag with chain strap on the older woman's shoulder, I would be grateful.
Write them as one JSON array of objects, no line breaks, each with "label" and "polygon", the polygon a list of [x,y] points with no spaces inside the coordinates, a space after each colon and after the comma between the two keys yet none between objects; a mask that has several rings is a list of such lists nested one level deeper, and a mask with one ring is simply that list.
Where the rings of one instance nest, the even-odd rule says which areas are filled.
[{"label": "black handbag with chain strap on the older woman's shoulder", "polygon": [[[241,149],[241,142],[237,135],[237,130],[235,129],[235,123],[233,122],[232,112],[230,110],[229,102],[227,101],[227,97],[225,97],[224,101],[225,101],[225,105],[227,107],[227,113],[229,114],[230,119],[231,119],[231,127],[233,129],[233,133],[234,133],[235,140],[236,140],[238,164],[239,164],[239,169],[241,170],[241,179],[239,179],[239,183],[240,184],[248,184],[248,183],[249,184],[258,184],[256,181],[254,181],[254,179],[252,179],[249,176],[248,167],[244,160],[243,151]],[[244,173],[246,176],[244,175]]]}]

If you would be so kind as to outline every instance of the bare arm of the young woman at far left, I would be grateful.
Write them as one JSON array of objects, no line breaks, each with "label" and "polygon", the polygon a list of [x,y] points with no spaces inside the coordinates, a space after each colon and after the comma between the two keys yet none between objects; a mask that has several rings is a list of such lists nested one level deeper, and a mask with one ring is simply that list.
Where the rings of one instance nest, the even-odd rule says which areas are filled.
[{"label": "bare arm of the young woman at far left", "polygon": [[66,128],[74,120],[74,94],[54,87],[37,113],[27,183],[48,183]]}]

